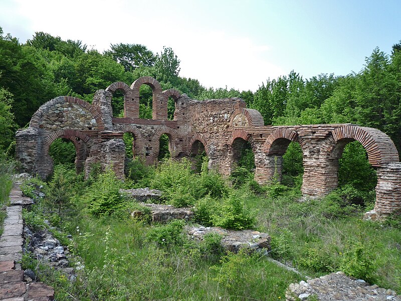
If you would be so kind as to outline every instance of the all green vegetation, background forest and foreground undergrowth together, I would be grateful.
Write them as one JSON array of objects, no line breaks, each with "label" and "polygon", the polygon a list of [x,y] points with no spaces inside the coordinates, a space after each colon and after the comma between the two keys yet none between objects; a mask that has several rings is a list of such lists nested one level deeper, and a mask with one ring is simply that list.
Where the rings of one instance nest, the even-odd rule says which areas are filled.
[{"label": "all green vegetation, background forest and foreground undergrowth together", "polygon": [[[171,48],[153,54],[143,45],[113,44],[103,54],[81,41],[63,41],[39,32],[21,44],[0,28],[0,202],[7,203],[15,140],[38,107],[58,95],[91,101],[97,89],[115,81],[155,77],[163,89],[176,88],[197,99],[242,97],[258,109],[266,125],[357,123],[387,133],[401,150],[401,47],[386,55],[374,49],[358,73],[320,74],[304,80],[292,71],[268,79],[259,89],[207,88],[179,76],[179,59]],[[140,116],[150,118],[151,90],[140,89]],[[121,116],[122,97],[113,97],[113,114]],[[174,103],[169,101],[172,118]],[[43,186],[45,197],[24,212],[33,230],[48,228],[71,251],[78,278],[70,282],[26,254],[23,267],[38,269],[54,285],[58,300],[125,299],[282,299],[291,282],[304,279],[247,250],[225,253],[218,235],[200,243],[183,233],[183,223],[149,223],[149,215],[130,217],[145,208],[120,188],[151,187],[163,191],[162,202],[189,206],[194,222],[231,229],[254,228],[272,237],[270,255],[303,275],[343,270],[379,286],[401,292],[401,218],[383,223],[362,221],[374,204],[375,171],[358,142],[348,143],[339,160],[339,187],[325,198],[303,200],[302,153],[291,143],[284,155],[280,183],[260,186],[253,180],[254,158],[245,148],[229,179],[207,169],[207,158],[168,159],[168,138],[160,140],[160,163],[144,166],[126,143],[126,179],[93,169],[89,179],[76,175],[75,148],[57,139],[51,146],[56,164],[47,182],[23,185],[28,196]],[[4,211],[0,211],[4,215]],[[45,220],[47,222],[45,222]],[[67,235],[71,234],[72,239]]]}]

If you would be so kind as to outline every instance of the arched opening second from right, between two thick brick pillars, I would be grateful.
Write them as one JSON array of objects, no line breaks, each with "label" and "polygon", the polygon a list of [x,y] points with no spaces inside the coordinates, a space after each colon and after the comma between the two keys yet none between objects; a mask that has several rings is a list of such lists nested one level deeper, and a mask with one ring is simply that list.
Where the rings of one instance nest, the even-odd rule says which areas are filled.
[{"label": "arched opening second from right, between two thick brick pillars", "polygon": [[303,154],[301,145],[291,141],[283,155],[283,168],[281,184],[290,187],[302,186],[302,176],[304,174]]}]

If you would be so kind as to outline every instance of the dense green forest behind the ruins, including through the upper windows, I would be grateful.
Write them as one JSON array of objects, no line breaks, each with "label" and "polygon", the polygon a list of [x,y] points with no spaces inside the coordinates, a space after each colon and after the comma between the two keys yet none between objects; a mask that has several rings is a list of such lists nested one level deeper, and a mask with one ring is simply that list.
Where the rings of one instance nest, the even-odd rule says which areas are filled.
[{"label": "dense green forest behind the ruins, including through the upper windows", "polygon": [[[358,73],[303,79],[291,71],[267,79],[256,92],[204,87],[196,79],[180,77],[179,64],[167,47],[154,54],[144,45],[120,43],[99,53],[82,41],[63,41],[43,32],[22,44],[0,28],[0,149],[12,155],[15,131],[56,96],[91,102],[96,90],[113,82],[129,84],[152,76],[163,89],[175,88],[199,100],[241,97],[262,113],[265,125],[349,122],[380,129],[401,150],[401,41],[390,55],[374,49]],[[114,96],[114,115],[121,116],[123,99]],[[151,118],[151,90],[146,85],[140,102],[140,116]],[[173,110],[170,101],[170,117]]]}]

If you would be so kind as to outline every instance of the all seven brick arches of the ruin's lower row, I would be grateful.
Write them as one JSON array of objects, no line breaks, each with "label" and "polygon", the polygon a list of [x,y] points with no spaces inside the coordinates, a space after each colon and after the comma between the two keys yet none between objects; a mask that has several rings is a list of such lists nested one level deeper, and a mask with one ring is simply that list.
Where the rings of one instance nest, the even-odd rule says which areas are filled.
[{"label": "all seven brick arches of the ruin's lower row", "polygon": [[[323,147],[323,150],[328,156],[334,152],[337,152],[337,155],[341,155],[344,146],[348,142],[357,140],[365,148],[368,161],[373,167],[379,167],[389,162],[398,162],[398,155],[395,146],[388,148],[385,147],[387,144],[384,142],[392,143],[392,141],[379,130],[372,128],[368,128],[368,130],[369,131],[358,126],[338,127],[332,131],[332,141],[329,141],[330,143],[326,143],[327,145],[326,147]],[[141,143],[141,139],[137,139],[140,137],[140,131],[135,126],[129,124],[119,125],[117,127],[117,131],[123,133],[130,132],[134,135],[135,139],[137,140],[137,143],[135,143],[135,155],[140,155],[144,146],[141,145],[143,143]],[[375,136],[372,136],[372,132],[375,134]],[[171,127],[160,126],[156,129],[154,137],[159,139],[162,134],[168,135],[170,141],[170,152],[174,153],[174,145],[175,141],[178,139],[178,132]],[[88,152],[87,155],[89,156],[89,150],[93,145],[93,140],[86,134],[75,129],[60,129],[52,132],[46,138],[43,144],[43,150],[45,154],[49,153],[51,143],[59,137],[69,139],[74,143],[74,146],[77,150],[77,156],[81,156],[78,154],[86,152]],[[232,146],[234,141],[238,138],[248,141],[253,148],[253,152],[258,152],[258,143],[254,141],[252,134],[244,129],[234,130],[227,140],[227,145]],[[384,145],[381,145],[383,143],[378,143],[377,140],[380,140],[380,138]],[[197,145],[199,142],[202,143],[206,154],[210,156],[210,143],[208,142],[207,138],[200,133],[195,133],[190,139],[188,143],[189,153],[196,152],[196,148],[198,146],[194,145]],[[290,142],[298,142],[302,149],[305,148],[305,140],[300,137],[297,132],[290,128],[281,127],[274,130],[268,136],[261,148],[267,156],[282,156],[286,152]],[[158,152],[158,149],[155,149],[155,152]]]}]

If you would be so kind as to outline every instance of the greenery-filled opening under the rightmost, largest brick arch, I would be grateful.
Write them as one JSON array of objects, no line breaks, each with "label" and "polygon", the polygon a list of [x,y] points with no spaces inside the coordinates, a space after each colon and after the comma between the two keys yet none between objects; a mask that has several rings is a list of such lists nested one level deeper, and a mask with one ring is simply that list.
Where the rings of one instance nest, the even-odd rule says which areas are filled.
[{"label": "greenery-filled opening under the rightmost, largest brick arch", "polygon": [[348,204],[367,205],[375,199],[377,175],[359,141],[344,138],[333,149],[339,193]]}]

